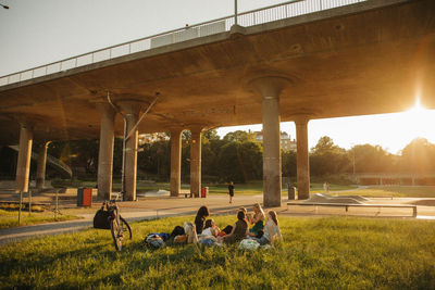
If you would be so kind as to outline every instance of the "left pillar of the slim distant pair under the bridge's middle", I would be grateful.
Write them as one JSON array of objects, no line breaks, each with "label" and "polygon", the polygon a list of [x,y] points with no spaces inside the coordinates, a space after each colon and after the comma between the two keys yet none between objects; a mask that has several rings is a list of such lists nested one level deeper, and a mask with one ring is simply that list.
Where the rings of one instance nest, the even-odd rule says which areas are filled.
[{"label": "left pillar of the slim distant pair under the bridge's middle", "polygon": [[182,129],[171,130],[171,197],[182,189]]}]

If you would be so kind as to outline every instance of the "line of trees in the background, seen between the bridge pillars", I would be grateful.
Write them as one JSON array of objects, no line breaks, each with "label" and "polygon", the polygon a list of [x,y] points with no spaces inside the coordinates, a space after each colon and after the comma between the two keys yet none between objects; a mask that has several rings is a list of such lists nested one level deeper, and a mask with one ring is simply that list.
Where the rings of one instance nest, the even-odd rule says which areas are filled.
[{"label": "line of trees in the background, seen between the bridge pillars", "polygon": [[[138,178],[169,181],[171,172],[170,134],[154,136],[152,141],[139,146]],[[254,133],[234,131],[220,138],[216,130],[202,134],[201,164],[203,182],[247,182],[261,180],[262,143],[256,141]],[[98,165],[98,140],[52,142],[49,154],[70,164],[79,178],[96,178]],[[190,133],[182,135],[182,179],[189,180]],[[296,151],[282,152],[282,174],[296,179]],[[122,139],[115,139],[113,174],[121,177]],[[310,150],[310,174],[313,177],[352,173],[428,173],[435,172],[435,144],[417,138],[400,154],[391,154],[380,146],[357,144],[343,149],[325,136]]]}]

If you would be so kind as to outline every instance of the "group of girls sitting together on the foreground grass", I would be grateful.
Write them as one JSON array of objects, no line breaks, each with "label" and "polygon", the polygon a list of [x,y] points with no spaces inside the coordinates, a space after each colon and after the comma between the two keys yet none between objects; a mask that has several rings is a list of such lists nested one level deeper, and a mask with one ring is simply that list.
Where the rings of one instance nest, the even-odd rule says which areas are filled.
[{"label": "group of girls sitting together on the foreground grass", "polygon": [[[269,211],[264,215],[259,203],[253,205],[253,215],[248,214],[245,207],[237,211],[237,222],[232,226],[226,226],[221,230],[213,219],[207,219],[210,216],[210,211],[207,206],[201,206],[198,210],[195,223],[184,224],[184,234],[176,235],[174,231],[171,236],[174,241],[187,243],[206,243],[206,244],[222,244],[236,243],[244,239],[252,239],[264,244],[274,244],[276,238],[282,238],[278,219],[275,211]],[[266,220],[264,223],[264,219]],[[251,228],[249,226],[252,225]],[[178,227],[178,230],[181,227]],[[182,232],[179,232],[182,234]]]}]

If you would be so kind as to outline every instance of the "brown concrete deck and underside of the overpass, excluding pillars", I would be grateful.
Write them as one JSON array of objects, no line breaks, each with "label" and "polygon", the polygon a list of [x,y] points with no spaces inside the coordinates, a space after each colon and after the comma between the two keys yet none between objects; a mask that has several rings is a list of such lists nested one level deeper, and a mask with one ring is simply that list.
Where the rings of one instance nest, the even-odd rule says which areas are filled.
[{"label": "brown concrete deck and underside of the overpass, excluding pillars", "polygon": [[[409,1],[358,5],[222,33],[0,87],[0,138],[16,143],[14,119],[35,124],[34,138],[99,136],[96,103],[160,98],[140,133],[174,124],[258,124],[262,100],[248,86],[260,76],[290,80],[279,98],[282,121],[400,112],[415,94],[435,108],[435,9]],[[366,9],[365,11],[363,11]],[[353,13],[355,11],[355,13]],[[358,13],[357,13],[358,12]],[[128,61],[130,60],[130,61]],[[122,134],[122,119],[115,130]]]}]

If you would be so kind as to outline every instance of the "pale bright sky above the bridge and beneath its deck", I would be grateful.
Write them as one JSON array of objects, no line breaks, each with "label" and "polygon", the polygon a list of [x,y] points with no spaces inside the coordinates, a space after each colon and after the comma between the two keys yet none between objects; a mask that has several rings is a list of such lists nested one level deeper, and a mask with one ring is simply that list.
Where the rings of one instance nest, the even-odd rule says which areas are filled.
[{"label": "pale bright sky above the bridge and beneath its deck", "polygon": [[[283,3],[238,0],[245,12]],[[0,76],[48,64],[109,46],[234,14],[234,0],[0,0]],[[0,104],[1,105],[1,104]],[[398,153],[415,137],[435,143],[435,110],[413,108],[403,113],[310,121],[309,147],[322,136],[350,149],[378,144]],[[261,130],[261,124],[217,129]],[[281,130],[296,137],[294,123]]]}]

